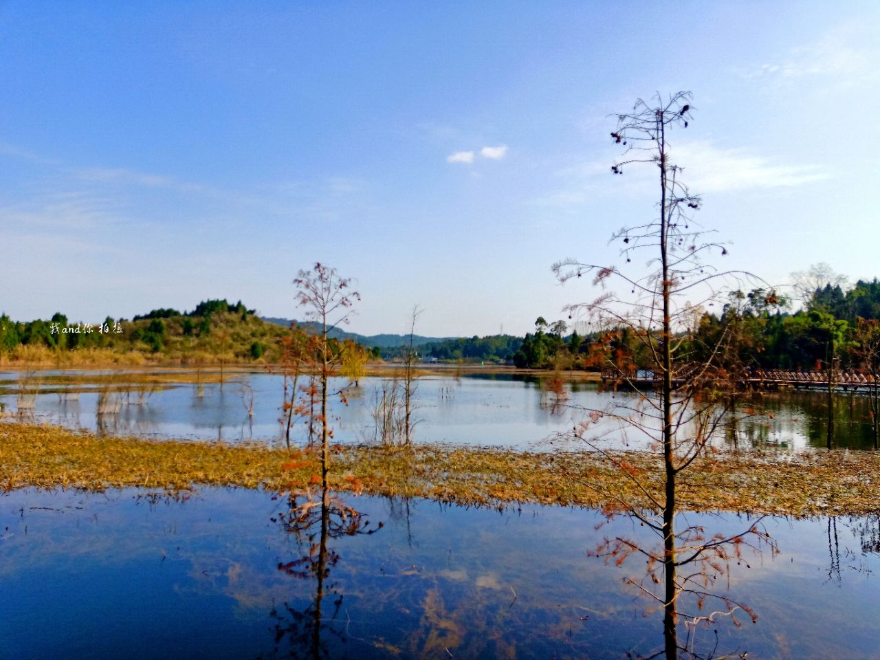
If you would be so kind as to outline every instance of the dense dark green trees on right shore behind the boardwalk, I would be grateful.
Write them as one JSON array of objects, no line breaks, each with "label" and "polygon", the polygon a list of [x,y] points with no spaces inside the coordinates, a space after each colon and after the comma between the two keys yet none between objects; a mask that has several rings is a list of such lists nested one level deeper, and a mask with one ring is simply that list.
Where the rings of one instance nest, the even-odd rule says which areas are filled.
[{"label": "dense dark green trees on right shore behind the boardwalk", "polygon": [[[694,326],[678,329],[686,355],[697,356],[730,333],[723,359],[738,369],[873,370],[880,359],[880,282],[856,282],[851,289],[826,283],[813,290],[803,308],[790,312],[787,297],[774,290],[734,291],[720,312],[695,310]],[[564,336],[565,323],[538,319],[512,359],[517,366],[602,370],[648,366],[649,342],[631,328],[605,328],[584,337]],[[703,356],[708,357],[708,356]],[[876,364],[875,364],[876,366]]]}]

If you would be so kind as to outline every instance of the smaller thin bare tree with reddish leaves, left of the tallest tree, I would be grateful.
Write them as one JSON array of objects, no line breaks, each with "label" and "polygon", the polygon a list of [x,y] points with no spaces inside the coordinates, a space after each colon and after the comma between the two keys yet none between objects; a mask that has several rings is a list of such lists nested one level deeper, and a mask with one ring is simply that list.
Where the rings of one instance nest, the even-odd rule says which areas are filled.
[{"label": "smaller thin bare tree with reddish leaves, left of the tallest tree", "polygon": [[348,323],[351,307],[361,296],[357,291],[351,290],[350,279],[340,277],[335,268],[321,263],[316,263],[312,270],[300,270],[293,283],[297,286],[297,304],[305,308],[306,317],[315,321],[319,328],[319,334],[314,335],[314,347],[309,355],[316,359],[315,370],[321,403],[318,417],[321,431],[321,488],[326,494],[328,443],[333,435],[327,418],[327,385],[340,360],[339,352],[334,352],[330,345],[329,333],[337,326]]}]

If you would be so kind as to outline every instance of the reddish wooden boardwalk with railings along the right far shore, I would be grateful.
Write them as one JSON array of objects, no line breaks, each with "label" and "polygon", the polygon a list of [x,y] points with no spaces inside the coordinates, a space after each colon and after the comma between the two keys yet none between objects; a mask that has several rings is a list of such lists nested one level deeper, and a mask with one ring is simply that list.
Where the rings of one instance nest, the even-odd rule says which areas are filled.
[{"label": "reddish wooden boardwalk with railings along the right far shore", "polygon": [[[620,370],[602,372],[602,382],[628,382],[640,387],[660,385],[662,380],[650,373],[639,375],[626,374]],[[686,378],[672,378],[672,385],[678,386],[686,382]],[[793,371],[793,370],[752,370],[748,378],[743,378],[741,385],[754,389],[828,389],[828,375],[825,371]],[[854,370],[840,370],[834,373],[834,388],[850,391],[868,392],[873,385],[880,386],[880,380],[866,376]]]}]

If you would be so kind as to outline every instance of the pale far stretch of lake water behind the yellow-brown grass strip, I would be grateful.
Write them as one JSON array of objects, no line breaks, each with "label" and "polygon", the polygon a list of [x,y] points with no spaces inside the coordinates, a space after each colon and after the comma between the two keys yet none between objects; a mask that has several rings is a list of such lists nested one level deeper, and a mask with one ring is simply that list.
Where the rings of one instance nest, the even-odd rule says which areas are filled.
[{"label": "pale far stretch of lake water behind the yellow-brown grass strip", "polygon": [[[149,373],[149,372],[148,372]],[[152,372],[156,373],[156,372]],[[163,372],[165,374],[169,372]],[[264,372],[238,374],[221,387],[216,383],[126,384],[126,374],[99,371],[46,371],[25,375],[0,372],[0,406],[14,413],[26,391],[28,416],[74,428],[117,435],[175,437],[193,440],[282,442],[282,378]],[[135,379],[135,372],[128,378]],[[184,372],[184,377],[194,378]],[[334,440],[373,440],[370,414],[382,378],[364,378],[360,387],[334,378],[332,389],[344,389],[348,406],[331,398]],[[30,385],[27,385],[30,384]],[[130,388],[130,389],[125,389]],[[548,438],[571,429],[590,409],[605,409],[613,400],[635,402],[629,392],[601,392],[598,385],[568,384],[568,399],[556,400],[537,378],[516,375],[467,375],[463,378],[420,378],[414,395],[414,439],[449,443],[546,450]],[[252,399],[253,397],[253,399]],[[248,408],[253,400],[253,416]],[[835,444],[841,448],[872,446],[870,413],[862,396],[835,398]],[[822,448],[826,444],[827,411],[821,392],[767,392],[762,412],[738,422],[736,433],[719,440],[722,446],[780,449]],[[642,448],[644,438],[625,436],[612,422],[594,429],[612,446]],[[291,436],[304,441],[297,423]]]}]

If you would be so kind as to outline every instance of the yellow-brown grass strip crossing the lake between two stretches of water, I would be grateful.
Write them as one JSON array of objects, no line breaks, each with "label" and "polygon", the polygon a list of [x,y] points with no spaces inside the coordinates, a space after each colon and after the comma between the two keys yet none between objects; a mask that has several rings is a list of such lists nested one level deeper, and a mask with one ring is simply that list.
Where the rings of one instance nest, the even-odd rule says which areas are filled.
[{"label": "yellow-brown grass strip crossing the lake between two stretches of water", "polygon": [[[662,493],[655,457],[619,454],[627,472],[595,454],[524,453],[420,445],[411,449],[335,447],[331,487],[370,495],[427,497],[466,505],[517,502],[613,510],[620,500],[651,508],[635,487]],[[103,437],[48,425],[0,424],[0,488],[186,489],[202,485],[301,488],[319,473],[317,457],[291,460],[263,445]],[[880,511],[880,455],[829,451],[741,453],[700,458],[681,480],[681,510],[808,517]]]}]

